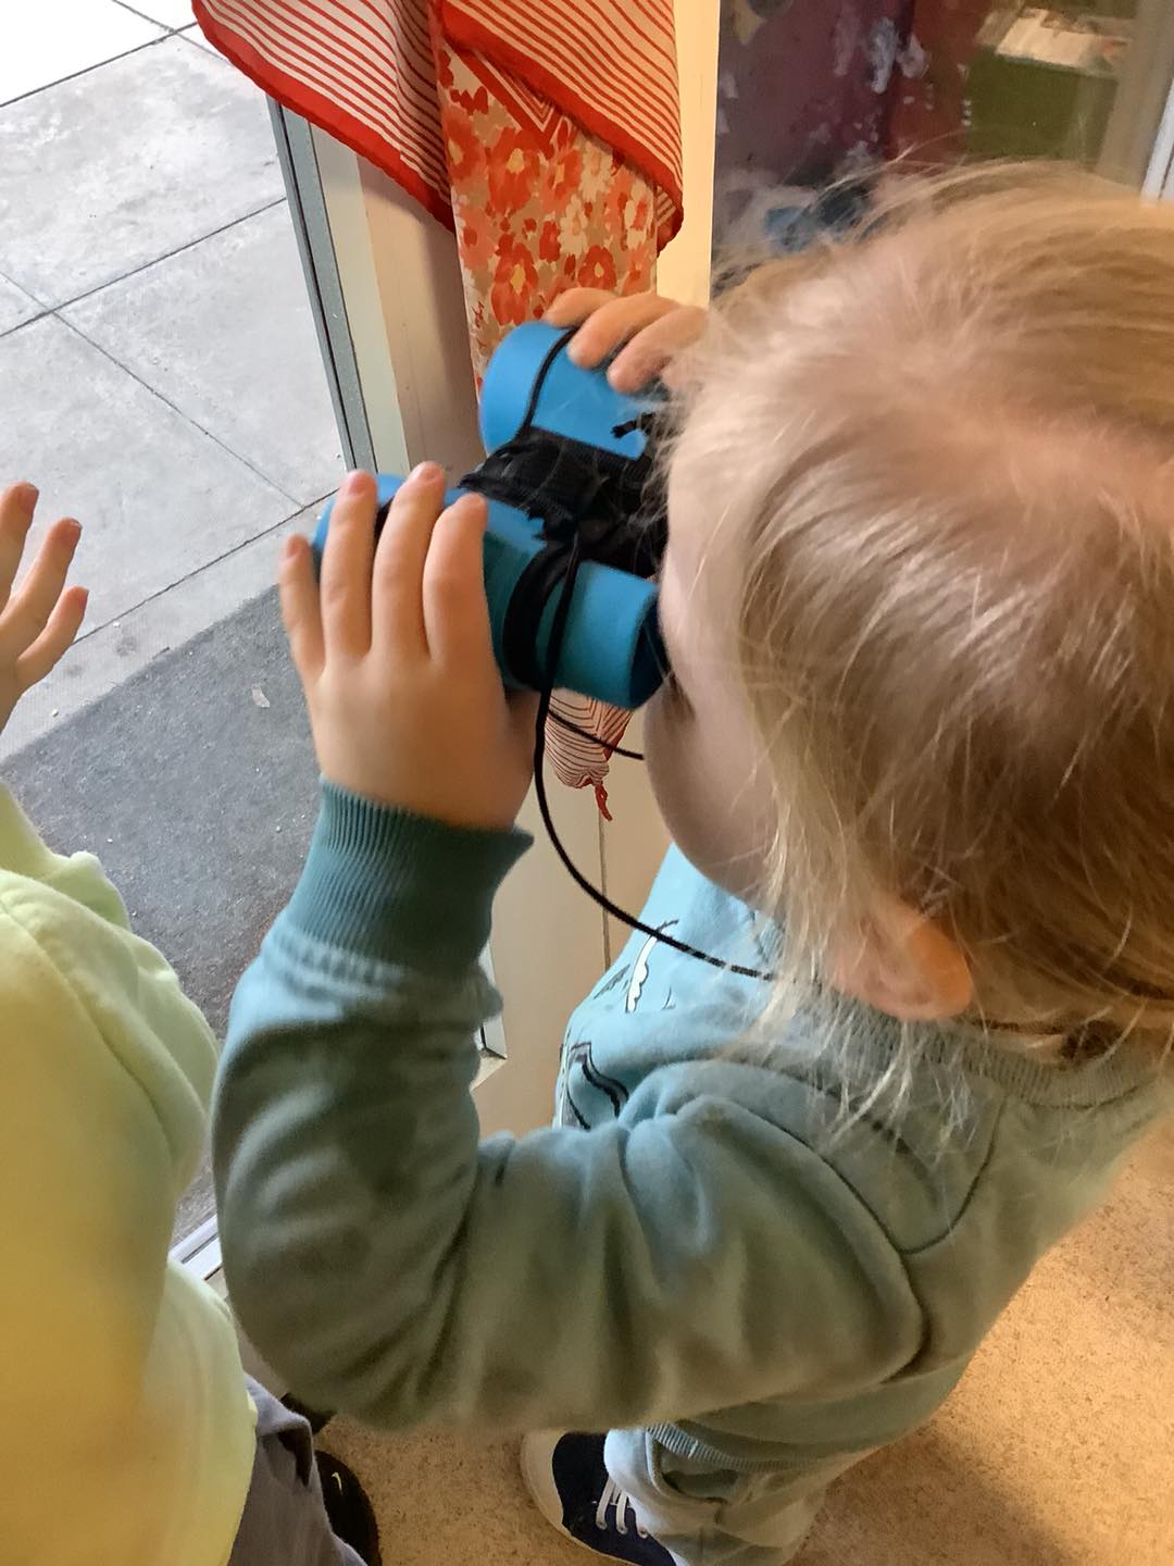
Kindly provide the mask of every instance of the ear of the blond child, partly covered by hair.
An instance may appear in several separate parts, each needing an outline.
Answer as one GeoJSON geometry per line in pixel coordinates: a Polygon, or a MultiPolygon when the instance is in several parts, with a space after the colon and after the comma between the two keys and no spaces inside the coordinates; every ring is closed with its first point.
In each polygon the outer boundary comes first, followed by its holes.
{"type": "Polygon", "coordinates": [[[831,982],[902,1023],[958,1016],[974,999],[956,941],[895,897],[886,897],[833,952],[831,982]]]}

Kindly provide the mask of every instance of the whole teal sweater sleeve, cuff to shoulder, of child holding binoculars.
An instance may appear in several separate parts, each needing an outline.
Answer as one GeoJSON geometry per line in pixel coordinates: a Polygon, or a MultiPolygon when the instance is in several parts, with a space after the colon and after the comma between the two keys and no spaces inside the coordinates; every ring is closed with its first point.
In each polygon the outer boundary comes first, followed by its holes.
{"type": "Polygon", "coordinates": [[[477,1138],[477,966],[517,835],[327,789],[238,990],[213,1148],[230,1297],[319,1406],[601,1430],[873,1383],[917,1350],[900,1257],[753,1107],[676,1093],[477,1138]],[[629,1106],[631,1107],[631,1106],[629,1106]]]}

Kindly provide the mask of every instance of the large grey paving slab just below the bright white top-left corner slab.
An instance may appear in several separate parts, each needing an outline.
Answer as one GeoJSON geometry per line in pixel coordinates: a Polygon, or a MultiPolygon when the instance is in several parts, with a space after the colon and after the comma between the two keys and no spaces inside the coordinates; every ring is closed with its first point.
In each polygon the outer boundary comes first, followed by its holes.
{"type": "Polygon", "coordinates": [[[178,36],[0,108],[0,274],[45,305],[283,194],[265,96],[178,36]]]}

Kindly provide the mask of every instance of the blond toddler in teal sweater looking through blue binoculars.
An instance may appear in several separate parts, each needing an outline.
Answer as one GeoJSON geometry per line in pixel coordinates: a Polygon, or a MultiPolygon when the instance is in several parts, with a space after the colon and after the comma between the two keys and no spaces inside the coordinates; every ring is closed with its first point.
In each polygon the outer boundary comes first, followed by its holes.
{"type": "Polygon", "coordinates": [[[1174,211],[988,169],[709,321],[551,319],[679,406],[643,919],[772,977],[634,936],[559,1123],[479,1142],[532,703],[482,504],[420,468],[376,547],[351,474],[282,572],[322,806],[221,1066],[229,1283],[307,1398],[556,1431],[598,1555],[778,1566],[1171,1102],[1174,211]]]}

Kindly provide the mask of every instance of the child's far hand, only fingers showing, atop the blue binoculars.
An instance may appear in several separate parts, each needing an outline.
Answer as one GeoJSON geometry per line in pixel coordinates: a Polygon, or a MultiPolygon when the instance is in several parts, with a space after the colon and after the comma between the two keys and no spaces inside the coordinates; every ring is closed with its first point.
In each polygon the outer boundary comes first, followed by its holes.
{"type": "Polygon", "coordinates": [[[614,354],[607,379],[617,392],[639,392],[704,330],[706,312],[659,294],[617,299],[601,288],[559,294],[545,316],[549,326],[582,323],[567,349],[576,365],[593,370],[614,354]]]}

